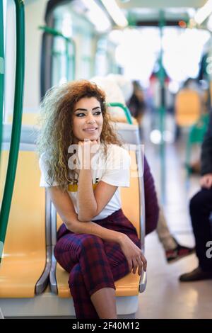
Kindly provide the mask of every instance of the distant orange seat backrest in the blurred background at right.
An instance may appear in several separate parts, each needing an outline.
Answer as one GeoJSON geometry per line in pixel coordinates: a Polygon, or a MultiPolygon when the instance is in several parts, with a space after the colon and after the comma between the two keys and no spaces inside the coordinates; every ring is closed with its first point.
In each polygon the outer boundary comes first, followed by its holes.
{"type": "Polygon", "coordinates": [[[182,89],[175,99],[175,118],[179,126],[196,123],[201,114],[201,100],[197,91],[182,89]]]}

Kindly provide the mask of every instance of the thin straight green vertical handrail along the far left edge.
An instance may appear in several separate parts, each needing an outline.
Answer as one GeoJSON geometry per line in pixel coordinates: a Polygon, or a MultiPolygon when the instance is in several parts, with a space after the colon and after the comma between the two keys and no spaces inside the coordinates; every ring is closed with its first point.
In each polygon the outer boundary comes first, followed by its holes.
{"type": "Polygon", "coordinates": [[[4,105],[4,16],[3,1],[0,1],[0,162],[1,141],[3,129],[3,105],[4,105]]]}

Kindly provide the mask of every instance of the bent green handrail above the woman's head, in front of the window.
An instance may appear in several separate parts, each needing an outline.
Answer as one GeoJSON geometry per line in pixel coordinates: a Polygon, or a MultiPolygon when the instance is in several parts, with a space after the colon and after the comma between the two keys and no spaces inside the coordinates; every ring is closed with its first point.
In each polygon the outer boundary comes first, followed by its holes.
{"type": "Polygon", "coordinates": [[[58,30],[55,30],[53,28],[49,28],[47,26],[39,26],[40,30],[45,31],[45,33],[49,33],[50,35],[53,36],[57,36],[57,37],[61,37],[65,40],[66,42],[66,77],[67,79],[69,78],[69,47],[68,45],[71,44],[71,46],[73,47],[73,78],[75,78],[75,71],[76,71],[76,59],[75,59],[75,55],[76,55],[76,45],[75,42],[72,38],[70,37],[66,37],[63,33],[61,33],[58,30]]]}

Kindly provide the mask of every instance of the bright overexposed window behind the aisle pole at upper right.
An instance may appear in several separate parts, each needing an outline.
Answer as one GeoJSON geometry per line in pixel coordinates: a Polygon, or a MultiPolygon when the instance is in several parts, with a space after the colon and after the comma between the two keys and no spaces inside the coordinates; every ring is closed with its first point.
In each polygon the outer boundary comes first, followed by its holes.
{"type": "Polygon", "coordinates": [[[123,73],[146,86],[163,48],[163,66],[173,81],[196,77],[201,53],[210,33],[206,30],[165,26],[162,42],[158,27],[125,29],[117,46],[117,62],[123,73]],[[189,45],[189,46],[188,46],[189,45]]]}

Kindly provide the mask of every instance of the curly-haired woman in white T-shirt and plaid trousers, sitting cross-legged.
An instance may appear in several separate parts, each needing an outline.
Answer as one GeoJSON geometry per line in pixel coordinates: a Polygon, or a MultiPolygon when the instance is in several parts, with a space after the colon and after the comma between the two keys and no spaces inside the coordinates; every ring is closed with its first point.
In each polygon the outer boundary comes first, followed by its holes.
{"type": "Polygon", "coordinates": [[[120,201],[119,186],[129,187],[129,153],[109,123],[105,93],[89,81],[51,89],[42,113],[40,186],[63,221],[54,256],[69,272],[76,317],[117,318],[114,281],[146,271],[120,201]]]}

